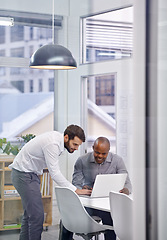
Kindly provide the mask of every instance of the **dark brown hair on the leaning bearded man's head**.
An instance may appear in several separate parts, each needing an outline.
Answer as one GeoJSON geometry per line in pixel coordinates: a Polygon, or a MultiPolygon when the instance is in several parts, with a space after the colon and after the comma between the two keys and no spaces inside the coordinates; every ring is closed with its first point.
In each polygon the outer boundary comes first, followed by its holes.
{"type": "Polygon", "coordinates": [[[68,135],[69,140],[74,139],[74,137],[78,137],[82,142],[85,142],[85,133],[84,130],[77,126],[77,125],[69,125],[65,131],[64,131],[64,136],[68,135]]]}

